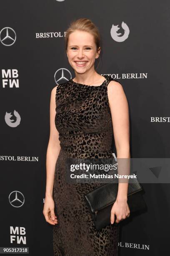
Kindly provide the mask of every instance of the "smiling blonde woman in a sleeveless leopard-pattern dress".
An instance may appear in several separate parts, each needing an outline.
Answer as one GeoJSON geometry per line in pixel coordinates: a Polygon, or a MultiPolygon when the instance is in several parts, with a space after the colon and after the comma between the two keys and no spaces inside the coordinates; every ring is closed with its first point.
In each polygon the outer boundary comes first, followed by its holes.
{"type": "Polygon", "coordinates": [[[95,71],[101,48],[100,34],[92,21],[81,18],[72,22],[65,40],[75,78],[51,92],[43,214],[54,225],[55,256],[115,256],[120,220],[130,215],[128,184],[119,184],[110,225],[96,230],[84,195],[101,184],[67,183],[65,161],[112,158],[113,131],[117,158],[130,158],[128,103],[119,82],[95,71]]]}

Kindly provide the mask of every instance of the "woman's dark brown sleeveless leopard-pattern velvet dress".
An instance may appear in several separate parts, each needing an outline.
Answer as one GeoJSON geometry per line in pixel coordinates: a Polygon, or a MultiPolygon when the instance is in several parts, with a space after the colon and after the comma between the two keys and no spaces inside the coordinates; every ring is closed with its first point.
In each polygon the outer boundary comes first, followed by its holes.
{"type": "MultiPolygon", "coordinates": [[[[69,81],[57,85],[55,126],[60,153],[55,164],[53,199],[58,223],[53,226],[55,256],[117,256],[120,224],[96,230],[84,194],[103,183],[69,184],[65,181],[68,158],[112,158],[112,117],[107,84],[69,81]]],[[[117,81],[118,82],[118,81],[117,81]]]]}

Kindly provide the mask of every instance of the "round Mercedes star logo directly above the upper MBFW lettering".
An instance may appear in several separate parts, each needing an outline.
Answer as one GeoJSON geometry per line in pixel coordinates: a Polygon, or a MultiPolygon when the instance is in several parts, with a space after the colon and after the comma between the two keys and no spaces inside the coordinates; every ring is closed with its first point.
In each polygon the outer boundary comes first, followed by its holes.
{"type": "Polygon", "coordinates": [[[2,28],[0,31],[0,41],[5,46],[11,46],[16,41],[16,33],[13,28],[2,28]]]}

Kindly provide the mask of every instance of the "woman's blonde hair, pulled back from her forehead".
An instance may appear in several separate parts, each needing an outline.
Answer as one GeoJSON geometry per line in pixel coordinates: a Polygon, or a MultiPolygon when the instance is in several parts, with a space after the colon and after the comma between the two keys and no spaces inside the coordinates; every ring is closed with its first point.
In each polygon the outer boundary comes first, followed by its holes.
{"type": "MultiPolygon", "coordinates": [[[[66,51],[67,51],[69,36],[70,36],[71,33],[75,32],[76,30],[85,31],[85,32],[88,32],[88,33],[92,34],[94,36],[94,41],[95,41],[96,48],[97,48],[97,51],[98,51],[99,47],[101,47],[100,46],[99,30],[95,26],[95,24],[87,18],[80,18],[78,20],[73,20],[70,23],[70,26],[69,26],[69,28],[67,28],[66,36],[65,36],[65,50],[66,51]]],[[[99,55],[98,59],[99,59],[99,63],[97,64],[96,69],[98,68],[98,66],[100,64],[100,55],[99,55]]]]}

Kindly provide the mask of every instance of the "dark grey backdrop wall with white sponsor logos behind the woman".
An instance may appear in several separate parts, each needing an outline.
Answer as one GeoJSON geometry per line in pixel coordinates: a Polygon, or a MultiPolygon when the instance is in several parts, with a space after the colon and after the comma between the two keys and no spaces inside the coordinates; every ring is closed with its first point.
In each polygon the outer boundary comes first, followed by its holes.
{"type": "MultiPolygon", "coordinates": [[[[100,30],[97,72],[123,86],[131,157],[169,157],[169,13],[167,0],[1,0],[0,247],[53,255],[53,226],[42,213],[50,95],[75,77],[64,44],[72,20],[89,18],[100,30]]],[[[169,183],[143,188],[147,211],[121,223],[120,256],[169,252],[169,183]]]]}

